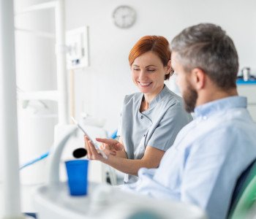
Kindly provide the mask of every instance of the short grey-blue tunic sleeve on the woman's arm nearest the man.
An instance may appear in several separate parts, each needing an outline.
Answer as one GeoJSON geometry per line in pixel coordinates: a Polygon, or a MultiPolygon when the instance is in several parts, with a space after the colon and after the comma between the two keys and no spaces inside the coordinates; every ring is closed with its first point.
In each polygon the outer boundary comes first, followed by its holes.
{"type": "Polygon", "coordinates": [[[173,145],[178,132],[192,120],[181,104],[170,106],[159,121],[158,126],[149,133],[146,145],[166,151],[173,145]]]}

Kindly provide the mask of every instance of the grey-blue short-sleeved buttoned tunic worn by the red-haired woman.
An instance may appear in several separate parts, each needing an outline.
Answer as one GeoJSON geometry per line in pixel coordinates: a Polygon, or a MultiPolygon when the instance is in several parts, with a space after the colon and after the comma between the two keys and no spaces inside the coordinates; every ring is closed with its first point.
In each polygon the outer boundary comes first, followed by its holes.
{"type": "MultiPolygon", "coordinates": [[[[148,110],[140,112],[143,93],[126,96],[121,112],[118,136],[122,137],[129,159],[141,159],[146,146],[167,150],[178,131],[192,120],[185,112],[180,96],[166,86],[151,101],[148,110]]],[[[126,174],[124,183],[134,183],[137,176],[126,174]]]]}

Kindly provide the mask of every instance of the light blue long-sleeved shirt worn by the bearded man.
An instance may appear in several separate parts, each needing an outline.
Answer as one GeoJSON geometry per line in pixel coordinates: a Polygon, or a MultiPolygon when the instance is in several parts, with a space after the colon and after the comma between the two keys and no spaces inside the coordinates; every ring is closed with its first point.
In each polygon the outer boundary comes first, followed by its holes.
{"type": "Polygon", "coordinates": [[[159,168],[140,169],[138,183],[124,189],[196,204],[209,218],[222,219],[238,177],[256,158],[256,124],[239,96],[196,107],[195,117],[159,168]]]}

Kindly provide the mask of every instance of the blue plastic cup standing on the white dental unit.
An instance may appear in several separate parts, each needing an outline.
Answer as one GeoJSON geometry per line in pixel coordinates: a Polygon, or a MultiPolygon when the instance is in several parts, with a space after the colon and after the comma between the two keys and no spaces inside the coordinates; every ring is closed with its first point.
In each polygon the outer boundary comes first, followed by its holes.
{"type": "Polygon", "coordinates": [[[71,196],[87,194],[87,173],[89,160],[66,161],[69,193],[71,196]]]}

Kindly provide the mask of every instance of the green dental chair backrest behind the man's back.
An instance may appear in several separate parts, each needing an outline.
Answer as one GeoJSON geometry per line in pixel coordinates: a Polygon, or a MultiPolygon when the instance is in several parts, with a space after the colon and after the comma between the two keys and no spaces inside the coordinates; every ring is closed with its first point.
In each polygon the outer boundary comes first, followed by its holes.
{"type": "Polygon", "coordinates": [[[241,176],[238,178],[230,209],[227,215],[228,219],[253,218],[252,211],[256,203],[256,159],[252,161],[241,176]]]}

